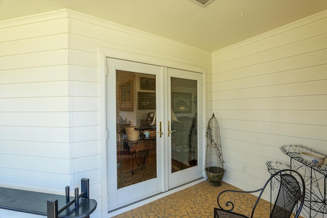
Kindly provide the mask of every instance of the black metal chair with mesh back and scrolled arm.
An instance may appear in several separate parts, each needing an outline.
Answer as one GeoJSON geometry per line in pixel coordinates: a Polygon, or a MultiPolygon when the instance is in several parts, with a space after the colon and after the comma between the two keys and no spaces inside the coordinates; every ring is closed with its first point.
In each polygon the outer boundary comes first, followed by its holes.
{"type": "MultiPolygon", "coordinates": [[[[235,211],[232,211],[233,209],[235,209],[234,208],[235,205],[230,200],[228,200],[225,203],[226,207],[223,208],[220,204],[220,201],[222,201],[220,197],[226,195],[226,192],[227,193],[234,192],[234,194],[237,194],[237,193],[254,193],[260,191],[259,197],[255,201],[252,208],[252,212],[250,216],[252,218],[255,208],[258,205],[258,202],[267,186],[270,187],[270,198],[271,198],[270,218],[289,218],[293,213],[293,210],[294,210],[294,218],[297,218],[301,212],[305,200],[306,187],[305,187],[305,181],[303,180],[302,176],[298,172],[292,169],[283,169],[281,171],[276,172],[267,180],[263,188],[260,188],[255,191],[224,190],[220,192],[217,197],[218,206],[220,208],[214,209],[214,217],[215,218],[248,217],[244,214],[240,214],[235,211]],[[270,186],[268,184],[270,184],[270,186]],[[278,192],[276,190],[278,190],[278,192]],[[275,199],[274,203],[273,203],[273,199],[275,199]]],[[[244,205],[239,205],[239,206],[244,206],[244,205]]]]}

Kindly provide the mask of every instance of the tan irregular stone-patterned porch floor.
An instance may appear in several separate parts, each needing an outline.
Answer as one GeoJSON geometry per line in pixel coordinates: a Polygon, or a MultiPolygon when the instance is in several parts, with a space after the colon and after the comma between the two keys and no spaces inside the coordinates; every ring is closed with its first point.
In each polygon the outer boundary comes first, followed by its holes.
{"type": "MultiPolygon", "coordinates": [[[[220,187],[213,187],[209,185],[209,180],[207,180],[114,217],[212,218],[214,217],[214,207],[217,207],[217,195],[225,189],[239,190],[225,182],[222,182],[220,187]]],[[[229,200],[230,196],[226,196],[226,199],[229,200]]],[[[238,197],[236,201],[243,206],[236,208],[235,211],[242,211],[244,215],[250,216],[251,207],[246,207],[244,205],[249,204],[251,206],[254,204],[255,200],[256,197],[250,194],[238,197]]],[[[262,200],[261,205],[261,207],[257,208],[256,214],[253,217],[269,217],[269,203],[262,200]]]]}

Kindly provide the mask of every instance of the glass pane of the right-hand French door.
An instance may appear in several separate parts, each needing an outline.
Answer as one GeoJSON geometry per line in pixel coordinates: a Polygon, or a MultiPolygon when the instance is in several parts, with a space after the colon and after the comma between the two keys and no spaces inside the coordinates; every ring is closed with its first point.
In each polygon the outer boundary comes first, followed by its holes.
{"type": "Polygon", "coordinates": [[[171,78],[172,173],[198,164],[197,81],[171,78]]]}

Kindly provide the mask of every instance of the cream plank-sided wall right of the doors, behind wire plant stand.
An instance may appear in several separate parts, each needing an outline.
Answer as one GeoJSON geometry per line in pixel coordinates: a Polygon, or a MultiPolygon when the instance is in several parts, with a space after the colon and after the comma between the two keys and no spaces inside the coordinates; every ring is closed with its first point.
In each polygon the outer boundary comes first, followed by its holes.
{"type": "Polygon", "coordinates": [[[224,181],[262,186],[266,161],[290,162],[283,144],[327,154],[326,11],[216,51],[212,80],[224,181]]]}

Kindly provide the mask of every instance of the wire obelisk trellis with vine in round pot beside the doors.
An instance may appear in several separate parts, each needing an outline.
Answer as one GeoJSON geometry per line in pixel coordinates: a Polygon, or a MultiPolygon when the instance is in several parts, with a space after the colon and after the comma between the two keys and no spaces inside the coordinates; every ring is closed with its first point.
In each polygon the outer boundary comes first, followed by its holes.
{"type": "Polygon", "coordinates": [[[221,149],[219,124],[214,113],[208,121],[206,138],[205,172],[212,186],[220,186],[226,168],[221,149]]]}

